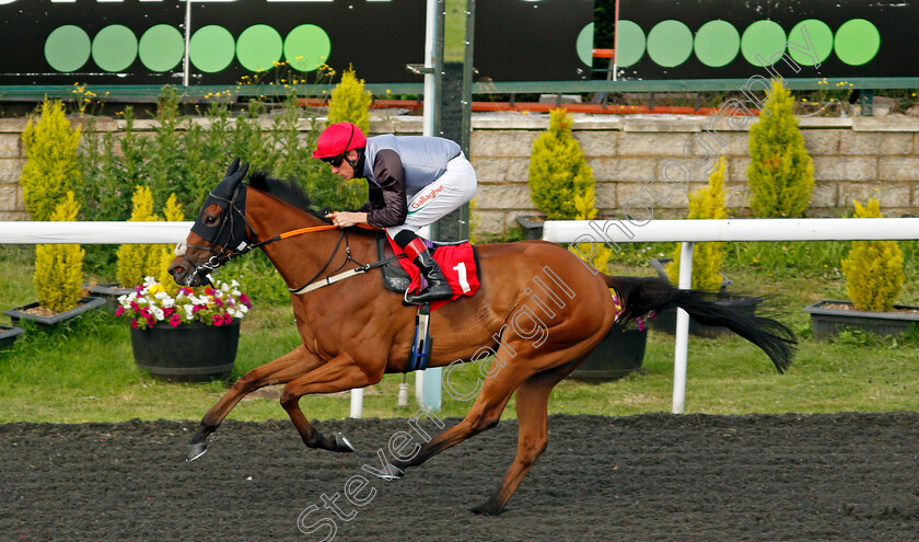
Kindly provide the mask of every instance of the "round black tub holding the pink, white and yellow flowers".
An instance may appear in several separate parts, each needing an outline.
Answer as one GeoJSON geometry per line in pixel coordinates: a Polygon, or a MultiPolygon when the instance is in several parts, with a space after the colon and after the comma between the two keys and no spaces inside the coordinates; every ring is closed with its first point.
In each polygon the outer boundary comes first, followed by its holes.
{"type": "Polygon", "coordinates": [[[236,360],[240,321],[226,325],[160,322],[131,328],[135,362],[167,382],[207,382],[230,376],[236,360]]]}

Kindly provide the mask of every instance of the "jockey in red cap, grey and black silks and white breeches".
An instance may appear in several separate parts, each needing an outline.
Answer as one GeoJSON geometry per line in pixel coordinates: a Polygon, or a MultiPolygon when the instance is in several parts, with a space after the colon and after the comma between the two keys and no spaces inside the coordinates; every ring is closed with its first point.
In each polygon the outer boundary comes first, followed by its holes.
{"type": "Polygon", "coordinates": [[[453,291],[417,232],[456,210],[476,194],[476,172],[460,146],[438,137],[393,135],[368,138],[351,123],[326,128],[313,158],[331,165],[341,178],[367,178],[370,197],[356,211],[326,215],[341,228],[383,228],[428,280],[407,296],[421,304],[450,299],[453,291]]]}

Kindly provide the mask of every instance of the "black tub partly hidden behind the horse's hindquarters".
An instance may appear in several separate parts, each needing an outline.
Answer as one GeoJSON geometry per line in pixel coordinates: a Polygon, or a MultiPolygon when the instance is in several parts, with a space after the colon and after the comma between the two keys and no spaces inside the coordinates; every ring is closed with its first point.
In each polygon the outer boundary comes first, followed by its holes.
{"type": "Polygon", "coordinates": [[[578,380],[614,380],[641,369],[648,330],[624,330],[614,325],[596,348],[569,378],[578,380]]]}

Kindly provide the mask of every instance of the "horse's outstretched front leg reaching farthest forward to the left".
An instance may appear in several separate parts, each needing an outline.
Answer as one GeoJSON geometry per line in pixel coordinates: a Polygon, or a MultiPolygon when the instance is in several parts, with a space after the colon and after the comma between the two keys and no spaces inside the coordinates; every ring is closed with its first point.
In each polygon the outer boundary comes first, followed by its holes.
{"type": "Polygon", "coordinates": [[[240,380],[233,383],[230,391],[201,418],[201,423],[198,425],[198,429],[195,431],[195,436],[191,437],[191,442],[188,445],[186,461],[195,461],[205,454],[208,450],[206,442],[208,436],[217,430],[220,423],[223,422],[223,418],[248,393],[266,385],[286,384],[314,370],[322,364],[323,360],[301,345],[290,354],[245,373],[240,380]]]}

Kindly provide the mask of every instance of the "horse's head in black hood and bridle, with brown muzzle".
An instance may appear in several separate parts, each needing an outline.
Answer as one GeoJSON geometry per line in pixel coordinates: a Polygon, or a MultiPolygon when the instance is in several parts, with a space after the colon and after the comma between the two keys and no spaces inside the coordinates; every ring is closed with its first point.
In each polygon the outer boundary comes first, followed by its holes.
{"type": "Polygon", "coordinates": [[[170,274],[183,286],[200,286],[208,275],[224,264],[230,254],[252,244],[246,229],[246,185],[243,178],[248,163],[240,159],[230,164],[226,175],[211,191],[191,231],[175,249],[170,274]]]}

